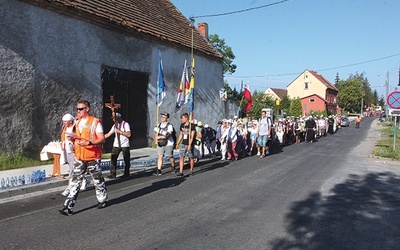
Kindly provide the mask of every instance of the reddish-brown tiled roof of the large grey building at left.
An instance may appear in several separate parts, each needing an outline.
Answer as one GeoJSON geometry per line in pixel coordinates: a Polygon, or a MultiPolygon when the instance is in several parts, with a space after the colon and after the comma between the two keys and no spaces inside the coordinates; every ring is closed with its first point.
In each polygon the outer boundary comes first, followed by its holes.
{"type": "MultiPolygon", "coordinates": [[[[23,0],[96,25],[158,43],[191,49],[190,22],[169,0],[23,0]]],[[[221,54],[197,31],[193,48],[221,59],[221,54]]]]}

